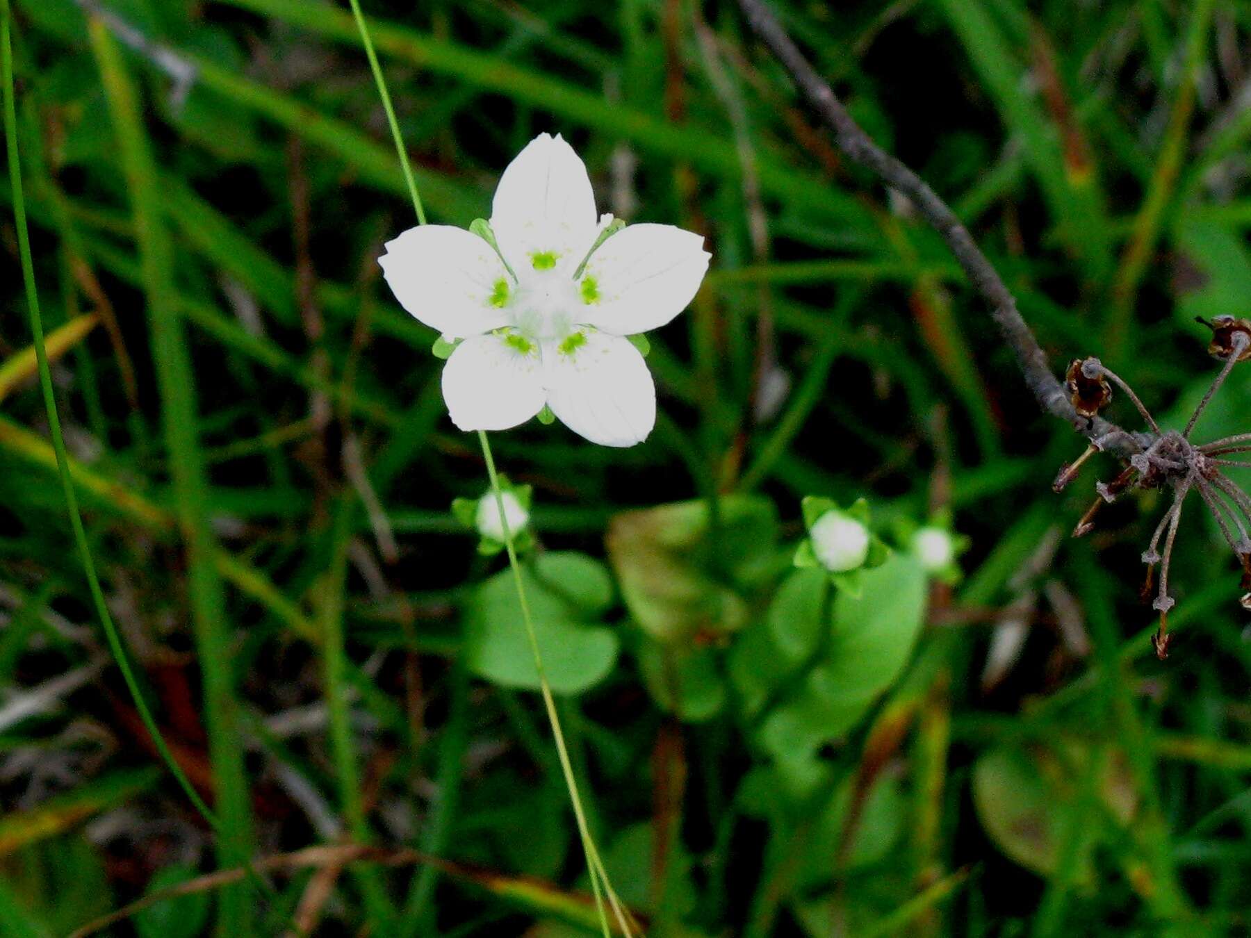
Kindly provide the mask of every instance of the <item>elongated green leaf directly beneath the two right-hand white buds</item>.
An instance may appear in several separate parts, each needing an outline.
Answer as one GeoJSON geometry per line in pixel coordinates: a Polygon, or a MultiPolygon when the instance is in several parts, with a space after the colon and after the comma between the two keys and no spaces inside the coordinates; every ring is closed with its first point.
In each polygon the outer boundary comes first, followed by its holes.
{"type": "Polygon", "coordinates": [[[912,654],[926,607],[926,575],[896,554],[859,572],[863,592],[839,592],[821,659],[761,728],[777,758],[798,758],[854,727],[898,678],[912,654]]]}

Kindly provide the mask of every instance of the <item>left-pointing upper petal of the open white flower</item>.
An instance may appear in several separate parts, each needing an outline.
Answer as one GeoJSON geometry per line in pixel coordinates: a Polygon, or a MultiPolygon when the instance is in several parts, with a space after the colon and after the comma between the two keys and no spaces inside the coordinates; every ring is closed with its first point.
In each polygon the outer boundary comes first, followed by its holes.
{"type": "Polygon", "coordinates": [[[410,228],[387,241],[378,263],[400,305],[444,336],[482,335],[509,321],[492,299],[512,289],[512,278],[475,234],[452,225],[410,228]]]}

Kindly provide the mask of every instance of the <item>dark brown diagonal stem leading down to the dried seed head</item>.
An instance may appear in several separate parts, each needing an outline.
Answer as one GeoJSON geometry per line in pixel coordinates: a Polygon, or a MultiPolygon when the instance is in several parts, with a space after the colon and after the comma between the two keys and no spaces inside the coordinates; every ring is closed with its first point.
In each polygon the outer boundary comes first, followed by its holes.
{"type": "Polygon", "coordinates": [[[990,304],[991,316],[1003,340],[1016,354],[1025,381],[1040,406],[1047,413],[1067,420],[1075,429],[1091,439],[1108,434],[1122,434],[1121,440],[1113,436],[1113,441],[1106,448],[1115,451],[1123,450],[1125,455],[1132,455],[1136,449],[1128,445],[1132,440],[1130,434],[1102,418],[1087,420],[1078,416],[1063,385],[1052,373],[1042,346],[1038,345],[1033,331],[1017,310],[1016,299],[1011,290],[973,241],[973,236],[956,216],[956,213],[916,173],[873,143],[761,0],[738,0],[738,4],[756,35],[777,56],[799,91],[834,133],[838,148],[852,160],[873,171],[892,189],[908,196],[922,218],[947,243],[973,288],[990,304]]]}

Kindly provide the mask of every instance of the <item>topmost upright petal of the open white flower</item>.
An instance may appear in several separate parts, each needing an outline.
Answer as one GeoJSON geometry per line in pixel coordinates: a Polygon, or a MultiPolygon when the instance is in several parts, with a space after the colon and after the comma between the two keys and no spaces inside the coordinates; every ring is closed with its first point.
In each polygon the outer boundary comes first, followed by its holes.
{"type": "Polygon", "coordinates": [[[595,235],[595,195],[587,166],[559,134],[539,134],[508,164],[490,206],[499,250],[518,270],[535,253],[582,263],[595,235]]]}

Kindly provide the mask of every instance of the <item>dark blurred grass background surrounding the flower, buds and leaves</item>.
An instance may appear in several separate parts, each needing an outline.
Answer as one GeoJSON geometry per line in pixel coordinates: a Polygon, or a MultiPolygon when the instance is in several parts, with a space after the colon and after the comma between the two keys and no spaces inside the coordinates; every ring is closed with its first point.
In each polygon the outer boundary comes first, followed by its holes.
{"type": "MultiPolygon", "coordinates": [[[[597,610],[609,667],[562,714],[652,933],[1247,933],[1232,558],[1191,510],[1157,662],[1137,594],[1160,494],[1067,539],[1117,468],[1096,458],[1052,494],[1083,441],[1040,414],[942,243],[839,156],[734,5],[364,6],[433,221],[487,215],[508,160],[559,131],[602,210],[698,230],[713,253],[691,311],[652,336],[646,444],[494,435],[534,487],[542,550],[603,559],[622,510],[746,490],[776,504],[779,554],[807,494],[867,495],[884,528],[950,509],[972,542],[909,665],[821,748],[817,800],[761,783],[769,758],[726,677],[763,605],[664,648],[698,657],[691,707],[641,675],[656,638],[620,599],[597,610]]],[[[48,326],[95,316],[59,334],[54,378],[109,607],[226,840],[271,857],[368,839],[457,864],[310,860],[265,874],[276,895],[205,880],[110,933],[276,934],[291,917],[320,934],[585,933],[537,698],[467,662],[474,590],[500,562],[447,509],[485,474],[447,420],[435,336],[375,264],[413,218],[345,5],[99,9],[114,30],[93,40],[73,0],[18,0],[15,48],[48,326]],[[111,66],[118,21],[190,70],[151,45],[111,66]],[[126,126],[153,173],[124,173],[126,126]],[[183,324],[189,385],[154,356],[154,303],[183,324]],[[200,463],[203,487],[178,482],[200,463]]],[[[1193,316],[1251,300],[1251,5],[774,9],[973,230],[1057,371],[1098,355],[1183,421],[1213,370],[1193,316]]],[[[0,240],[0,934],[65,934],[235,854],[161,768],[104,643],[20,359],[11,215],[0,240]]],[[[1251,365],[1200,439],[1251,429],[1248,401],[1251,365]]],[[[1111,415],[1140,425],[1123,398],[1111,415]]]]}

